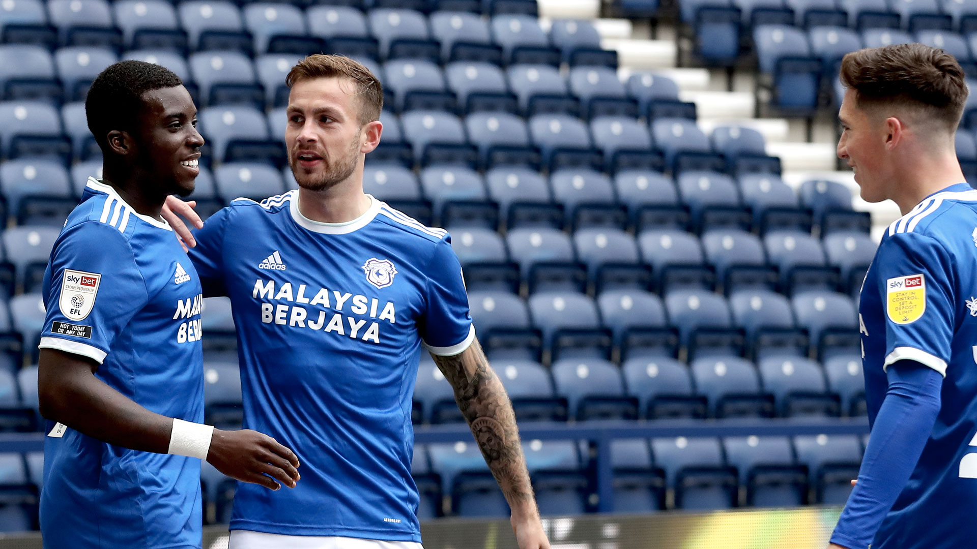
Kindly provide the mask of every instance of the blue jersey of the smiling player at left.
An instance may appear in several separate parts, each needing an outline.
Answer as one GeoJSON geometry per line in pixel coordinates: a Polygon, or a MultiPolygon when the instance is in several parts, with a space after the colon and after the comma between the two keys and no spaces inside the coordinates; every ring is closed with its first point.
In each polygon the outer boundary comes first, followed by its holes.
{"type": "MultiPolygon", "coordinates": [[[[96,376],[150,411],[203,421],[203,297],[170,227],[88,181],[44,274],[42,349],[101,363],[96,376]]],[[[200,547],[200,460],[103,443],[47,422],[44,546],[200,547]]]]}

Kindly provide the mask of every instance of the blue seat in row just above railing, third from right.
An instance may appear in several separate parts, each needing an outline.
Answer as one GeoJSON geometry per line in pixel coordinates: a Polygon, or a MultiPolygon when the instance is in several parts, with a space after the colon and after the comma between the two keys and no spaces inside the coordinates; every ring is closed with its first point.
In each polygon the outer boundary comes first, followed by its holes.
{"type": "Polygon", "coordinates": [[[739,357],[695,359],[689,364],[696,390],[708,399],[711,417],[773,417],[774,399],[761,389],[756,366],[739,357]]]}

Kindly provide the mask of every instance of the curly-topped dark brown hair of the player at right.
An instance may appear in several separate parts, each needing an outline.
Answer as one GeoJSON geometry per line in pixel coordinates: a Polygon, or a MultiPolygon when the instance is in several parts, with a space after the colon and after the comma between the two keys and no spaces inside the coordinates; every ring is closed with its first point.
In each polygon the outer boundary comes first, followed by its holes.
{"type": "Polygon", "coordinates": [[[852,52],[841,60],[841,83],[859,106],[892,103],[922,107],[953,132],[963,114],[967,86],[954,56],[923,44],[895,44],[852,52]]]}

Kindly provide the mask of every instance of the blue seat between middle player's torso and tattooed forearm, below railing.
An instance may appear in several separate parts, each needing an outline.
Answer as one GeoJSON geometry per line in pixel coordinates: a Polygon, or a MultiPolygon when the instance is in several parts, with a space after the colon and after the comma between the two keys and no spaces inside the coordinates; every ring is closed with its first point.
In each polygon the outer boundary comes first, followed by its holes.
{"type": "Polygon", "coordinates": [[[435,443],[428,446],[431,468],[450,494],[451,509],[461,517],[508,517],[509,505],[488,471],[478,445],[435,443]]]}

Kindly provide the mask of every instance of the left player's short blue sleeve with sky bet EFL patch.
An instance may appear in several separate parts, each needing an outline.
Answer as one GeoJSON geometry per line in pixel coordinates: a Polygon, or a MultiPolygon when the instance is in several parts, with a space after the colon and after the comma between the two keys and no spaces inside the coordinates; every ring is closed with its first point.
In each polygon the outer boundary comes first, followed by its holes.
{"type": "Polygon", "coordinates": [[[51,254],[40,349],[81,355],[100,364],[149,292],[136,256],[114,227],[88,222],[65,230],[51,254]]]}

